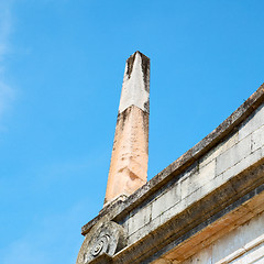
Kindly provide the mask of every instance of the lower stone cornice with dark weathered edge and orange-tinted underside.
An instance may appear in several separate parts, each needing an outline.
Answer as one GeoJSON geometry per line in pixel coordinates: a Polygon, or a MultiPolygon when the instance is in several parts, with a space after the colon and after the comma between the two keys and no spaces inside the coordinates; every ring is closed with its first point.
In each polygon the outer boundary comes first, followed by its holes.
{"type": "Polygon", "coordinates": [[[264,158],[112,258],[114,264],[184,261],[264,210],[264,158]],[[197,246],[195,246],[197,245],[197,246]],[[200,246],[200,248],[198,248],[200,246]]]}

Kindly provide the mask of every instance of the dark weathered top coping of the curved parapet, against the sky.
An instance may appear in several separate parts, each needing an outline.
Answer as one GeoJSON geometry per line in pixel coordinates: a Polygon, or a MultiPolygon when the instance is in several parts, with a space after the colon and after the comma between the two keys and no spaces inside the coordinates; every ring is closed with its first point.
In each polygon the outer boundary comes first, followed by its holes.
{"type": "Polygon", "coordinates": [[[216,130],[208,134],[198,144],[187,151],[178,160],[158,173],[144,186],[138,189],[127,200],[117,200],[105,207],[100,213],[90,222],[81,228],[81,234],[86,234],[103,216],[108,215],[109,219],[121,220],[128,212],[133,210],[142,201],[151,197],[162,186],[167,184],[172,178],[178,177],[179,174],[194,164],[198,158],[208,153],[213,146],[220,143],[229,134],[237,131],[241,124],[254,110],[264,101],[264,85],[262,85],[242,106],[240,106],[228,119],[226,119],[216,130]]]}

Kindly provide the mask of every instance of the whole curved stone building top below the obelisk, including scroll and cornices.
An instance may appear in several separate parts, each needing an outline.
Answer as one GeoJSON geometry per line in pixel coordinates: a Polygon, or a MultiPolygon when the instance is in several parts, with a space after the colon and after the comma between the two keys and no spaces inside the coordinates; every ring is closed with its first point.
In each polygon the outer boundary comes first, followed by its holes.
{"type": "Polygon", "coordinates": [[[85,224],[77,263],[264,263],[263,213],[264,85],[197,145],[85,224]]]}

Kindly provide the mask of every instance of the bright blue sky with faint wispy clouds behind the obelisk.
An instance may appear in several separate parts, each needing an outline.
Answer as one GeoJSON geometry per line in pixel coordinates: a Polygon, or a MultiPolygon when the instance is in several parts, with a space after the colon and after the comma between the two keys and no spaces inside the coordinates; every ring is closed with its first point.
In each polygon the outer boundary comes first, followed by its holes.
{"type": "Polygon", "coordinates": [[[264,1],[0,0],[0,263],[72,264],[102,208],[125,59],[151,58],[148,178],[264,81],[264,1]]]}

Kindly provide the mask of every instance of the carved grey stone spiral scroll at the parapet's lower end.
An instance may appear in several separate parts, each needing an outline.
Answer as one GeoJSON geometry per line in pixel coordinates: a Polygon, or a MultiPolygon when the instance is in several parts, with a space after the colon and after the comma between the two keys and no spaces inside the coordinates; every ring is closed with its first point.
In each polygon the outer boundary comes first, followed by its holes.
{"type": "Polygon", "coordinates": [[[113,256],[125,245],[127,235],[120,224],[113,221],[100,222],[86,235],[76,263],[87,264],[101,255],[113,256]]]}

